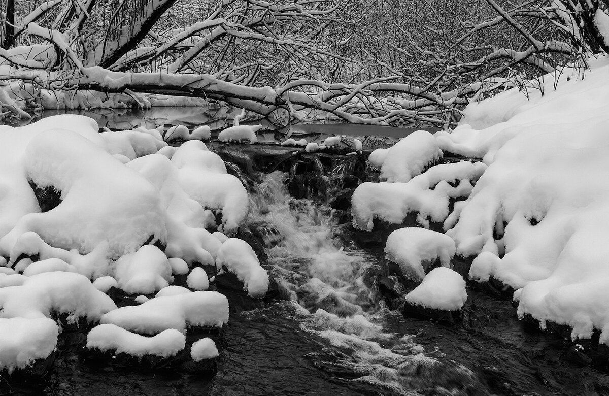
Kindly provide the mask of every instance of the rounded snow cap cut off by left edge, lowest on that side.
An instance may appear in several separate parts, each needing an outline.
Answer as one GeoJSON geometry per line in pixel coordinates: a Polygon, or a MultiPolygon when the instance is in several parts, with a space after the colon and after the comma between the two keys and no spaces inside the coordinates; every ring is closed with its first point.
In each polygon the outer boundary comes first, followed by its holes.
{"type": "Polygon", "coordinates": [[[0,319],[0,370],[12,373],[51,355],[59,328],[48,317],[0,319]]]}

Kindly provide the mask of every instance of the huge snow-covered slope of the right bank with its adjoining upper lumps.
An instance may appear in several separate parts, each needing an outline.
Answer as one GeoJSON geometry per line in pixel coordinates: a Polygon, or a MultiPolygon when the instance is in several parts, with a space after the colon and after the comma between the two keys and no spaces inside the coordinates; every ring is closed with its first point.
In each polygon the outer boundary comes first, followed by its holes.
{"type": "Polygon", "coordinates": [[[371,162],[382,163],[381,176],[394,183],[356,189],[354,225],[370,230],[374,218],[400,224],[411,211],[423,225],[444,221],[457,254],[476,258],[472,278],[516,289],[519,316],[530,314],[542,327],[546,320],[569,325],[573,338],[590,338],[596,328],[609,343],[608,81],[609,60],[593,59],[585,79],[544,76],[543,94],[512,89],[469,105],[459,127],[434,135],[435,145],[419,133],[414,146],[405,138],[379,152],[371,162]],[[419,143],[419,154],[406,154],[419,143]],[[451,164],[431,177],[434,166],[412,177],[438,149],[484,164],[451,164]],[[456,187],[446,183],[455,179],[456,187]],[[448,213],[451,197],[467,199],[448,213]]]}

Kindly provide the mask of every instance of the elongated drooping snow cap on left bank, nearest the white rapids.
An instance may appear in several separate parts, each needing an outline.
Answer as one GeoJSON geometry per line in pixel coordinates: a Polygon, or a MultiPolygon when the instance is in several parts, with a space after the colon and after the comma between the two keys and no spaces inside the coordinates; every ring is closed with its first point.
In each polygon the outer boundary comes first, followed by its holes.
{"type": "Polygon", "coordinates": [[[238,238],[225,241],[216,258],[216,266],[227,269],[243,282],[250,297],[264,297],[269,290],[269,274],[260,266],[258,256],[247,242],[238,238]]]}

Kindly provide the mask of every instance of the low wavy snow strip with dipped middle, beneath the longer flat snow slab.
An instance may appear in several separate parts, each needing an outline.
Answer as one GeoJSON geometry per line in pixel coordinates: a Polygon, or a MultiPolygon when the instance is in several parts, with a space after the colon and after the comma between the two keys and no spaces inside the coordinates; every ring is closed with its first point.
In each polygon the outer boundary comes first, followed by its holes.
{"type": "Polygon", "coordinates": [[[185,345],[186,336],[174,328],[163,330],[153,337],[145,337],[116,325],[102,324],[94,327],[86,336],[87,348],[127,353],[138,358],[144,355],[164,358],[175,356],[185,345]]]}

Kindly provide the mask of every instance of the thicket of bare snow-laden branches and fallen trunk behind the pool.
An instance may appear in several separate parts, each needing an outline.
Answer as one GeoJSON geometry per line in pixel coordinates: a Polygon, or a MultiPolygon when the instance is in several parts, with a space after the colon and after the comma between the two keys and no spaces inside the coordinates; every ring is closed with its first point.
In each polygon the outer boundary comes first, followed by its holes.
{"type": "Polygon", "coordinates": [[[609,49],[607,0],[2,0],[0,10],[0,103],[17,116],[78,92],[140,105],[166,93],[271,118],[450,125],[471,100],[609,49]]]}

